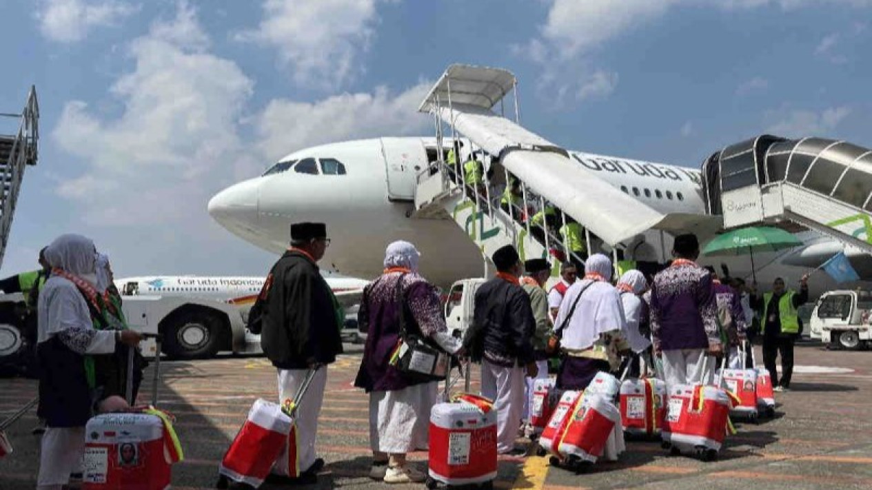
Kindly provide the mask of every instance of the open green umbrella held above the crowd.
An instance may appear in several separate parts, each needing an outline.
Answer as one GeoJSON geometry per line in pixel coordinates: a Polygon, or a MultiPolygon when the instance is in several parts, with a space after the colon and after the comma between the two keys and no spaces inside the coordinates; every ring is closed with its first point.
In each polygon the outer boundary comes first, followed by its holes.
{"type": "Polygon", "coordinates": [[[703,248],[703,255],[710,257],[725,255],[751,255],[751,274],[754,281],[754,252],[775,252],[785,248],[802,245],[799,239],[780,228],[750,227],[739,228],[718,235],[703,248]]]}

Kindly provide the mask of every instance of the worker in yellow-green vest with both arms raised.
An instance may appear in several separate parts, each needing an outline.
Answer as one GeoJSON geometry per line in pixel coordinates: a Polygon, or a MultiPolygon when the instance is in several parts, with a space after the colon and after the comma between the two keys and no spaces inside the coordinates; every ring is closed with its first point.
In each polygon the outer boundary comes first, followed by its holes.
{"type": "Polygon", "coordinates": [[[751,305],[763,312],[763,364],[772,376],[775,391],[787,391],[794,374],[794,342],[799,337],[800,316],[796,309],[808,301],[808,275],[800,279],[800,292],[785,289],[784,279],[777,278],[772,292],[757,296],[757,284],[751,286],[751,305]],[[781,380],[778,379],[775,361],[781,353],[781,380]]]}

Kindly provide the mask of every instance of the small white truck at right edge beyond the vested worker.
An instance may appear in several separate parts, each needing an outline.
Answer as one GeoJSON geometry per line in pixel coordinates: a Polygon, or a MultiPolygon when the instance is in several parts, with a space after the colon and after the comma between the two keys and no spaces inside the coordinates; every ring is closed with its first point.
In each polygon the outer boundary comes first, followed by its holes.
{"type": "Polygon", "coordinates": [[[862,289],[828,291],[814,305],[811,337],[844,349],[862,349],[872,341],[870,319],[872,292],[862,289]]]}

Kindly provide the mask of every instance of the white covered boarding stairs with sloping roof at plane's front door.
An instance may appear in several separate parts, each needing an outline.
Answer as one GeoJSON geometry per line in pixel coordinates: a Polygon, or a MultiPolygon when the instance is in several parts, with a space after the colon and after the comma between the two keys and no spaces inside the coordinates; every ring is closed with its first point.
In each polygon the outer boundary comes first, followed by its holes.
{"type": "MultiPolygon", "coordinates": [[[[566,224],[567,216],[587,230],[589,251],[589,234],[593,234],[612,248],[616,258],[619,249],[626,248],[630,255],[628,246],[651,229],[673,234],[694,229],[704,235],[707,230],[713,235],[719,228],[719,220],[705,215],[660,213],[584,172],[561,146],[520,125],[516,84],[510,71],[451,65],[433,85],[419,112],[434,115],[439,155],[433,167],[418,176],[416,217],[451,218],[467,229],[483,254],[513,243],[526,252],[525,258],[545,257],[549,251],[571,257],[572,251],[554,229],[566,224]],[[514,120],[506,117],[509,93],[514,94],[514,111],[509,110],[514,120]],[[460,156],[456,167],[446,165],[444,148],[453,147],[461,136],[472,146],[464,153],[487,155],[489,160],[483,184],[474,188],[465,184],[460,156]],[[521,181],[522,204],[501,209],[501,189],[512,178],[521,181]],[[547,204],[562,211],[558,213],[562,222],[551,229],[542,227],[537,234],[526,217],[547,204]]],[[[572,258],[582,262],[582,257],[572,258]]]]}

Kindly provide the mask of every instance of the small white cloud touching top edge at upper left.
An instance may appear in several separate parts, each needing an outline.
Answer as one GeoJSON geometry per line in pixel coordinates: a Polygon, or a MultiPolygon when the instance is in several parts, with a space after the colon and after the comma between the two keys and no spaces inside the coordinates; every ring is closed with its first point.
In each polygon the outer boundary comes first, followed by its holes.
{"type": "Polygon", "coordinates": [[[72,43],[84,39],[93,28],[117,24],[137,10],[121,0],[43,0],[36,17],[45,37],[72,43]]]}

